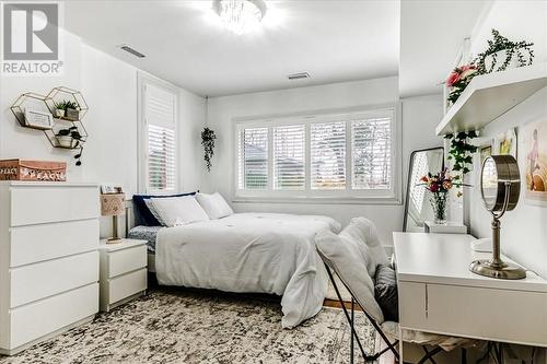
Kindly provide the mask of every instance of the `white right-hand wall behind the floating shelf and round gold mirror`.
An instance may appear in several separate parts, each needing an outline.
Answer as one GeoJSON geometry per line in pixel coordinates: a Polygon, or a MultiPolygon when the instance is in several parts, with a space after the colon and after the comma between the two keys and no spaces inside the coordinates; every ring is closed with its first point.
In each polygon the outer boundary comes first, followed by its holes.
{"type": "MultiPolygon", "coordinates": [[[[535,43],[535,62],[547,61],[547,2],[545,1],[496,1],[484,23],[472,39],[474,52],[486,47],[486,38],[491,28],[497,28],[512,40],[526,39],[535,43]],[[514,20],[522,20],[515,22],[514,20]]],[[[491,122],[481,133],[484,140],[494,138],[510,128],[520,128],[533,120],[547,118],[547,87],[536,93],[524,103],[491,122]]],[[[521,174],[524,171],[526,152],[522,140],[517,144],[517,160],[521,174]]],[[[491,216],[482,207],[479,190],[480,166],[475,158],[472,175],[473,188],[469,206],[466,207],[472,234],[489,237],[491,216]]],[[[522,178],[522,180],[525,180],[522,178]]],[[[526,203],[524,187],[520,202],[514,211],[508,212],[501,220],[502,251],[528,269],[547,278],[547,208],[526,203]]]]}

